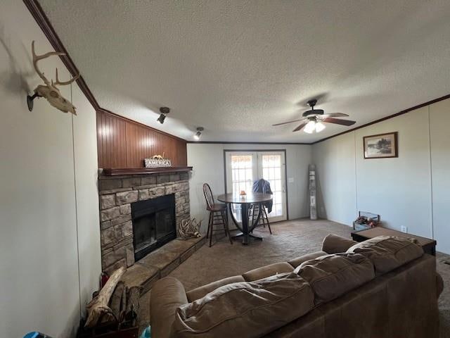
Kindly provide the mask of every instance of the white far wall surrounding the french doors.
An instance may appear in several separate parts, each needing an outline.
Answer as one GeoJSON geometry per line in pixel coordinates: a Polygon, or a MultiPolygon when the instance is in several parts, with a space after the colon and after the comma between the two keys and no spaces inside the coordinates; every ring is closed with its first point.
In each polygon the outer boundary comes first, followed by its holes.
{"type": "Polygon", "coordinates": [[[311,146],[295,144],[188,144],[188,165],[193,166],[190,184],[191,216],[203,219],[207,227],[207,212],[203,183],[210,184],[214,197],[224,194],[224,149],[285,149],[288,178],[289,219],[309,216],[308,165],[311,146]]]}

